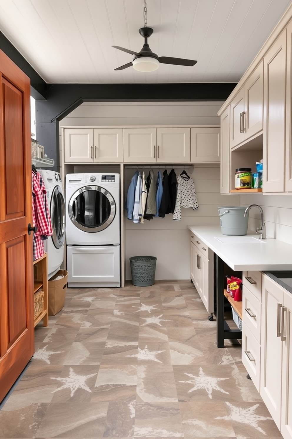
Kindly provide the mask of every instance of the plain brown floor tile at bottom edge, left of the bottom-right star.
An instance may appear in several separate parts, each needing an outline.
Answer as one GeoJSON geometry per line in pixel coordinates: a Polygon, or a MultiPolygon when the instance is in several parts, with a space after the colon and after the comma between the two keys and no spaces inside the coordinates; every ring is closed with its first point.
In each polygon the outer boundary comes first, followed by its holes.
{"type": "Polygon", "coordinates": [[[185,439],[235,438],[232,423],[223,419],[227,415],[224,402],[179,403],[185,439]]]}

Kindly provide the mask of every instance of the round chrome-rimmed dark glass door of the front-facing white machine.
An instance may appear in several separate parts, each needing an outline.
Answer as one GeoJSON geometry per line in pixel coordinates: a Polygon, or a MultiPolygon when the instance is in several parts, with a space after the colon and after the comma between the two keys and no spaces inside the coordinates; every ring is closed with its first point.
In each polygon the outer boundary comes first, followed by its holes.
{"type": "Polygon", "coordinates": [[[71,197],[68,213],[78,229],[89,233],[100,232],[113,222],[116,203],[103,187],[84,186],[71,197]]]}

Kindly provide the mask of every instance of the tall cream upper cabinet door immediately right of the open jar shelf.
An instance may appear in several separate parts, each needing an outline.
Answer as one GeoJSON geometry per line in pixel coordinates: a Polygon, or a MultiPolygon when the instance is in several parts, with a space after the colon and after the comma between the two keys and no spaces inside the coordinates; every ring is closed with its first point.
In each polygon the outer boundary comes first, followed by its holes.
{"type": "Polygon", "coordinates": [[[285,68],[286,31],[264,57],[264,192],[285,190],[285,68]]]}

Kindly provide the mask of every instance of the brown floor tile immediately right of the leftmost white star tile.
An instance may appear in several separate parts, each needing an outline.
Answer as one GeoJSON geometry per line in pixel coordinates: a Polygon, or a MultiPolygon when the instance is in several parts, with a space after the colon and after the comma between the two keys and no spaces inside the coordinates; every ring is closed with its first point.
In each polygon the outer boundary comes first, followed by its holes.
{"type": "Polygon", "coordinates": [[[67,356],[63,361],[63,365],[100,364],[104,348],[105,342],[74,342],[72,343],[71,348],[67,351],[67,356]]]}

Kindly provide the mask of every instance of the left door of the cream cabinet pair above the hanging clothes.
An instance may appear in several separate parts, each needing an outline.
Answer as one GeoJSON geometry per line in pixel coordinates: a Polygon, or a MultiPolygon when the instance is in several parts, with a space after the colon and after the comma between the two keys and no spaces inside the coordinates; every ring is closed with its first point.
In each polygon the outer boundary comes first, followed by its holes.
{"type": "Polygon", "coordinates": [[[123,161],[134,163],[156,162],[156,129],[124,128],[123,161]]]}

